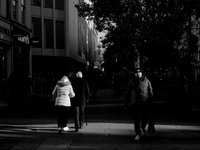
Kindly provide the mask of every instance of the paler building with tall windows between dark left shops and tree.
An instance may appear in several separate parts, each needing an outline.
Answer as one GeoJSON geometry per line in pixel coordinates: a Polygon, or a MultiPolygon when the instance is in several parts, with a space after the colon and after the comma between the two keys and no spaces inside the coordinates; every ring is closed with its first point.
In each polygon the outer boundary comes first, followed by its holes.
{"type": "Polygon", "coordinates": [[[81,70],[86,73],[95,61],[97,33],[74,7],[78,0],[32,0],[33,93],[44,94],[50,78],[81,70]],[[41,90],[39,90],[41,89],[41,90]]]}

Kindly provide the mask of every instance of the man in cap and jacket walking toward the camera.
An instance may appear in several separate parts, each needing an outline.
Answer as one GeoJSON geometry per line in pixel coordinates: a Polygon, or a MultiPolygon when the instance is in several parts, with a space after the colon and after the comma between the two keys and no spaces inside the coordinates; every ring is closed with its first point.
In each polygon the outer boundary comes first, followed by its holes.
{"type": "Polygon", "coordinates": [[[134,119],[135,140],[140,140],[141,131],[146,134],[145,127],[148,122],[152,96],[150,81],[142,74],[140,68],[136,68],[125,95],[125,108],[130,108],[134,119]]]}

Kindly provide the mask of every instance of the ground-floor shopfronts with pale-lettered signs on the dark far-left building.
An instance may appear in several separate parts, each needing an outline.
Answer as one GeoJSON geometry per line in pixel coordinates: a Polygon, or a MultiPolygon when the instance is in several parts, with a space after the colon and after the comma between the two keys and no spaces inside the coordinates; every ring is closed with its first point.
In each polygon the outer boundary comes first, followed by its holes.
{"type": "Polygon", "coordinates": [[[29,74],[30,33],[24,26],[0,17],[0,98],[9,94],[8,81],[13,73],[29,74]]]}

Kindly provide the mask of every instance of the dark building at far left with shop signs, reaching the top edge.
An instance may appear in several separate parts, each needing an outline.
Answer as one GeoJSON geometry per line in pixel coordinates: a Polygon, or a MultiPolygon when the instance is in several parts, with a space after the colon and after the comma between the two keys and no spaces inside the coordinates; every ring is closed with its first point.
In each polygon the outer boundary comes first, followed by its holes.
{"type": "Polygon", "coordinates": [[[30,72],[30,1],[0,1],[0,95],[8,93],[12,73],[30,72]]]}

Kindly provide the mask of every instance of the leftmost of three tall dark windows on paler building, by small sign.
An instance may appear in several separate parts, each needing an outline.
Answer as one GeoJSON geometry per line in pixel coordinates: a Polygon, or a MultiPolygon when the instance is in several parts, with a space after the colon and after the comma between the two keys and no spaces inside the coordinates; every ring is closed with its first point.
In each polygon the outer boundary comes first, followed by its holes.
{"type": "MultiPolygon", "coordinates": [[[[32,18],[32,33],[34,38],[42,41],[42,26],[40,18],[32,18]]],[[[41,47],[41,45],[33,45],[33,47],[41,47]]]]}

